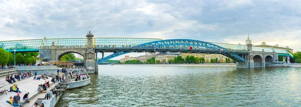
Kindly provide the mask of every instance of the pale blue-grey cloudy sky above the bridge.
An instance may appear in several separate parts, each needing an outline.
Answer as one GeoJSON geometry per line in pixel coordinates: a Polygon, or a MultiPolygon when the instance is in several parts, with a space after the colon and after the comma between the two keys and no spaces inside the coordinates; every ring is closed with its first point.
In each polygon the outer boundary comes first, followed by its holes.
{"type": "Polygon", "coordinates": [[[195,39],[301,51],[300,1],[0,0],[0,40],[85,37],[195,39]]]}

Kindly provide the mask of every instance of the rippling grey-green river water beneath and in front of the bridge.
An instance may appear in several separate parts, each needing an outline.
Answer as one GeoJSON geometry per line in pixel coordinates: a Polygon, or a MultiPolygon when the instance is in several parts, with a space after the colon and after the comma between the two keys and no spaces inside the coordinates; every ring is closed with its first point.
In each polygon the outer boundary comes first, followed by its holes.
{"type": "Polygon", "coordinates": [[[301,68],[99,65],[57,106],[301,106],[301,68]]]}

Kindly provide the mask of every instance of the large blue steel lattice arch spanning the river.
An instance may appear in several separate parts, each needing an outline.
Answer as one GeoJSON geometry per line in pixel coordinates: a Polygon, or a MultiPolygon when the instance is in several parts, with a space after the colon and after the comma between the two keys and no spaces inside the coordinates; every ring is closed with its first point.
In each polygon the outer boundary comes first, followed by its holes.
{"type": "MultiPolygon", "coordinates": [[[[111,50],[111,48],[102,50],[106,52],[106,50],[111,50]]],[[[154,41],[129,48],[117,48],[115,50],[117,51],[103,59],[100,59],[99,61],[97,61],[97,63],[103,62],[113,57],[127,54],[129,52],[188,52],[222,54],[237,62],[246,62],[245,58],[243,58],[243,55],[246,55],[248,53],[246,50],[231,50],[209,42],[191,39],[169,39],[154,41]]]]}

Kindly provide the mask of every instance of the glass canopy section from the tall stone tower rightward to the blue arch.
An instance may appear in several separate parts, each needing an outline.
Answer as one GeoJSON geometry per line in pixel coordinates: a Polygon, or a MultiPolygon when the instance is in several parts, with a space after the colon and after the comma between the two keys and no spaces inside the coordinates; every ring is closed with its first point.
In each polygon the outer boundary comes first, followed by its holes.
{"type": "Polygon", "coordinates": [[[96,48],[122,48],[133,47],[143,43],[161,41],[150,38],[94,38],[96,48]]]}

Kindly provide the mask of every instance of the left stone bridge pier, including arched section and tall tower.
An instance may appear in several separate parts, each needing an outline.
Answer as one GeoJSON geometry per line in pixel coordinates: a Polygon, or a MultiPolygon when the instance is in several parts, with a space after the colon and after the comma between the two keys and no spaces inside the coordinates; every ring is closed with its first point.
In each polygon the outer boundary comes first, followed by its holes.
{"type": "Polygon", "coordinates": [[[61,57],[68,53],[77,53],[84,58],[84,67],[92,68],[98,73],[98,64],[95,61],[95,46],[93,45],[93,34],[89,32],[86,37],[85,46],[56,46],[54,42],[50,48],[39,49],[40,58],[44,58],[43,62],[60,61],[61,57]]]}

